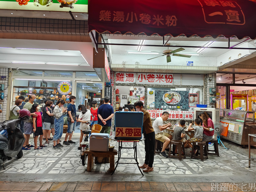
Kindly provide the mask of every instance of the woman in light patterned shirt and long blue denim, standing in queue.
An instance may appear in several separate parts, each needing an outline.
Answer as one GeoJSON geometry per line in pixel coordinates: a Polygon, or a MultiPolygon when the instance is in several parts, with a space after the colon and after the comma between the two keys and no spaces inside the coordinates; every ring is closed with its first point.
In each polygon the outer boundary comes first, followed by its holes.
{"type": "Polygon", "coordinates": [[[53,136],[53,149],[61,149],[63,145],[60,144],[60,139],[63,133],[63,124],[64,124],[64,117],[63,113],[66,112],[67,109],[62,109],[65,101],[63,99],[59,99],[54,107],[53,114],[55,116],[54,120],[54,136],[53,136]]]}

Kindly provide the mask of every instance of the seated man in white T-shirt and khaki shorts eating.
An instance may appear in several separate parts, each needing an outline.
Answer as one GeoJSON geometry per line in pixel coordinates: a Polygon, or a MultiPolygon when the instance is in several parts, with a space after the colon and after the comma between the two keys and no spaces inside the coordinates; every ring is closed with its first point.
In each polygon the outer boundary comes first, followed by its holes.
{"type": "Polygon", "coordinates": [[[162,116],[157,117],[154,120],[154,123],[153,123],[153,128],[154,128],[154,131],[155,131],[155,139],[164,143],[163,147],[162,147],[162,151],[160,153],[160,155],[164,158],[168,157],[165,154],[165,149],[166,149],[167,146],[169,146],[170,141],[172,140],[172,137],[173,137],[172,135],[163,132],[166,128],[172,126],[171,123],[168,123],[168,124],[165,124],[165,125],[163,123],[163,121],[166,121],[168,119],[168,117],[169,117],[169,113],[165,111],[164,113],[162,113],[162,116]]]}

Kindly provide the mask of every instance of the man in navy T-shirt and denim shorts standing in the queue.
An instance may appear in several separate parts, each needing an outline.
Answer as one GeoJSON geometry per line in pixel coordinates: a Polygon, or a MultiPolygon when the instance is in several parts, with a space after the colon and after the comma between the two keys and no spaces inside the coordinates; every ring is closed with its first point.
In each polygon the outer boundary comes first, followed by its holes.
{"type": "Polygon", "coordinates": [[[77,122],[77,117],[76,117],[76,105],[74,104],[76,102],[76,97],[71,95],[69,97],[69,105],[68,105],[68,116],[70,117],[70,120],[68,120],[68,130],[65,136],[65,140],[63,141],[63,145],[70,145],[72,143],[76,143],[73,142],[71,140],[72,135],[73,135],[73,131],[75,131],[76,129],[76,122],[77,122]],[[69,140],[67,140],[69,137],[69,140]]]}

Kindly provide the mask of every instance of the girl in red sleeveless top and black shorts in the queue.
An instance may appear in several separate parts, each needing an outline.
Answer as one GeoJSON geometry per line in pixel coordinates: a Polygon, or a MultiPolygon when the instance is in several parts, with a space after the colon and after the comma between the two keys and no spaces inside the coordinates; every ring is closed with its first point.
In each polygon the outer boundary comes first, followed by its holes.
{"type": "Polygon", "coordinates": [[[32,105],[32,108],[30,110],[30,113],[35,113],[38,116],[33,117],[33,131],[34,131],[34,144],[35,144],[35,148],[34,149],[43,149],[43,147],[47,147],[46,145],[43,145],[43,124],[42,124],[42,116],[41,113],[39,112],[40,107],[38,106],[37,103],[35,103],[34,105],[32,105]],[[40,145],[37,146],[37,138],[39,137],[39,142],[40,145]]]}

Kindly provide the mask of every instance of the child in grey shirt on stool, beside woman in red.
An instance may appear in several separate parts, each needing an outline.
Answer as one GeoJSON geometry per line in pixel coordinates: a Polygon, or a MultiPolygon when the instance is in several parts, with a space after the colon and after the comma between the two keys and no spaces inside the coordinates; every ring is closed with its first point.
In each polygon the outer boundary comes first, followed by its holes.
{"type": "MultiPolygon", "coordinates": [[[[201,122],[200,122],[200,119],[196,118],[194,120],[194,124],[195,126],[194,127],[191,127],[192,123],[189,124],[189,127],[188,127],[188,131],[192,131],[192,130],[195,130],[195,133],[194,133],[194,137],[190,138],[187,140],[187,145],[192,148],[192,142],[201,142],[202,139],[203,139],[203,127],[201,126],[201,122]]],[[[194,153],[197,153],[198,151],[198,148],[196,147],[195,148],[195,152],[194,153]]],[[[191,151],[190,151],[191,152],[191,151]]]]}

